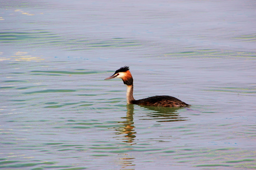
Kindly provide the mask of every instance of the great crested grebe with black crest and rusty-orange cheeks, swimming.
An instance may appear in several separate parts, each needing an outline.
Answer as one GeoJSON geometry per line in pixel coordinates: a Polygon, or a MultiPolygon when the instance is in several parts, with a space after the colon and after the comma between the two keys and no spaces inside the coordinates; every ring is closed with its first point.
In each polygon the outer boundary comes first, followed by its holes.
{"type": "Polygon", "coordinates": [[[133,78],[129,71],[129,67],[121,67],[116,72],[105,80],[112,78],[121,78],[124,84],[127,86],[126,99],[127,104],[138,104],[142,106],[160,106],[160,107],[186,107],[189,104],[182,102],[181,100],[167,95],[153,96],[145,99],[135,100],[133,98],[133,78]]]}

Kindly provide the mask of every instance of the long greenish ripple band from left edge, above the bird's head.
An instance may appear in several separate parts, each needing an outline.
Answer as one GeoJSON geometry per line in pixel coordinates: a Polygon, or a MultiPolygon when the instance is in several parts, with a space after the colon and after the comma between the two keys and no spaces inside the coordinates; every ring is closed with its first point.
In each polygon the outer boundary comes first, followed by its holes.
{"type": "Polygon", "coordinates": [[[137,40],[124,38],[112,38],[109,40],[90,40],[85,37],[81,38],[81,36],[77,36],[77,38],[69,38],[60,36],[48,30],[34,30],[28,32],[2,31],[0,32],[0,42],[6,44],[27,44],[28,46],[33,47],[55,45],[61,46],[67,51],[89,50],[95,48],[124,48],[142,45],[137,40]]]}

